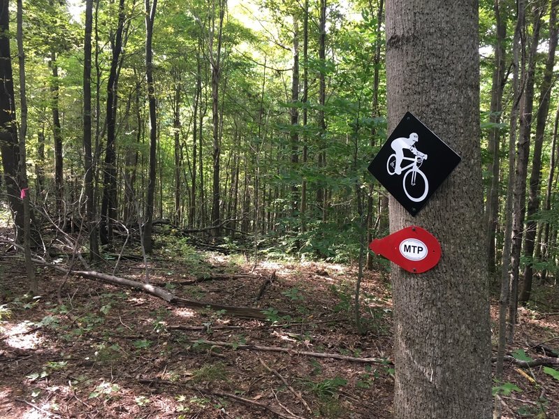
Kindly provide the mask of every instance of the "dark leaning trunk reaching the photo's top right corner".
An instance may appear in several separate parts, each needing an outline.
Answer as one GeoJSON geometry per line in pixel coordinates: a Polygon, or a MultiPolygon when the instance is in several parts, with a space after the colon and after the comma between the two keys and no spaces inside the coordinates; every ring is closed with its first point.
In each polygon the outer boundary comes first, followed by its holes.
{"type": "Polygon", "coordinates": [[[539,210],[539,179],[542,173],[542,146],[544,145],[544,131],[546,129],[547,115],[549,114],[549,101],[551,98],[551,87],[553,77],[553,66],[555,65],[555,52],[557,48],[557,7],[559,0],[551,2],[551,14],[549,18],[549,54],[547,56],[546,67],[544,70],[544,80],[539,91],[539,107],[536,116],[536,135],[534,138],[534,154],[532,156],[532,173],[530,174],[530,194],[528,196],[528,211],[526,212],[526,235],[524,240],[524,256],[527,263],[524,267],[523,282],[518,301],[527,302],[530,300],[532,292],[532,277],[534,275],[534,249],[536,239],[537,223],[533,216],[539,210]]]}

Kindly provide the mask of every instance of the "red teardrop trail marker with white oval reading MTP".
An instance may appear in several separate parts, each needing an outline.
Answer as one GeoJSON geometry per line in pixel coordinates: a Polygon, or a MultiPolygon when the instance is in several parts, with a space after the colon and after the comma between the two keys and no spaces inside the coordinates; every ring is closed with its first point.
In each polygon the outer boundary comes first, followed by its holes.
{"type": "Polygon", "coordinates": [[[412,226],[402,228],[369,245],[375,253],[391,260],[396,265],[421,274],[435,267],[441,258],[441,245],[427,230],[412,226]]]}

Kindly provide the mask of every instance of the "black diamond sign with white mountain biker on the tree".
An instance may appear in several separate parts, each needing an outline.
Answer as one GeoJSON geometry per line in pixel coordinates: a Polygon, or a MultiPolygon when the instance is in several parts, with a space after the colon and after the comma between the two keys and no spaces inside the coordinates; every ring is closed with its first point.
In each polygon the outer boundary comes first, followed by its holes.
{"type": "Polygon", "coordinates": [[[369,171],[409,214],[416,216],[460,163],[460,156],[411,112],[396,126],[369,171]]]}

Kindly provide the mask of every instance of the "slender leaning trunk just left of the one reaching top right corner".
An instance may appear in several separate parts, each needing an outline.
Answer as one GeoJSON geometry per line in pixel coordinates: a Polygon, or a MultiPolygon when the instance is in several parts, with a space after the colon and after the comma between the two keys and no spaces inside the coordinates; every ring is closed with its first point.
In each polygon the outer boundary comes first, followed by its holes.
{"type": "Polygon", "coordinates": [[[512,220],[511,247],[511,297],[509,302],[509,341],[514,339],[514,325],[516,324],[516,310],[518,307],[518,274],[522,249],[523,228],[526,205],[526,177],[528,177],[528,157],[530,156],[530,135],[532,131],[532,110],[534,108],[534,75],[536,66],[537,44],[541,27],[543,9],[535,6],[534,32],[528,57],[525,89],[522,97],[523,106],[520,114],[520,133],[516,145],[516,168],[514,174],[514,205],[512,220]]]}

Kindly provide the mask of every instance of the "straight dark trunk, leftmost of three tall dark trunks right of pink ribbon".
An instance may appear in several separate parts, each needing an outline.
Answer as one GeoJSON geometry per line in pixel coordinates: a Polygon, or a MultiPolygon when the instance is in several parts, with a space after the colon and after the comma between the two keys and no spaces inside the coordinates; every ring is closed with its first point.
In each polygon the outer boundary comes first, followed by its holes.
{"type": "Polygon", "coordinates": [[[97,242],[97,225],[95,214],[95,197],[93,188],[93,154],[92,154],[92,28],[93,0],[85,2],[85,37],[83,65],[83,149],[85,161],[85,207],[89,229],[89,260],[99,259],[97,242]]]}

